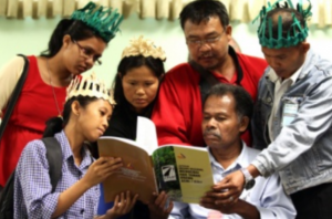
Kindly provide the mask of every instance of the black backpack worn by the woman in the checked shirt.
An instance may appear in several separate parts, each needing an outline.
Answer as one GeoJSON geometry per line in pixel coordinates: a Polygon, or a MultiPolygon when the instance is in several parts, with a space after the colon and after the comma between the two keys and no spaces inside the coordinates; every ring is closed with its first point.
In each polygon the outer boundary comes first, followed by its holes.
{"type": "MultiPolygon", "coordinates": [[[[54,137],[42,138],[42,142],[46,148],[46,159],[50,166],[50,181],[52,185],[52,192],[54,192],[62,175],[62,150],[60,143],[54,137]]],[[[14,175],[15,170],[11,174],[0,197],[0,219],[13,219],[14,175]]]]}

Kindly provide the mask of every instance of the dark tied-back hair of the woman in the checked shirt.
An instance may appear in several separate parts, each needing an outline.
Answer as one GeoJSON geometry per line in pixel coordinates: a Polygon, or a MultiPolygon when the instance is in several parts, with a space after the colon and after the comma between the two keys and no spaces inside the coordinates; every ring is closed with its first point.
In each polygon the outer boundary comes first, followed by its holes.
{"type": "Polygon", "coordinates": [[[74,96],[65,102],[61,117],[52,117],[46,122],[46,127],[43,133],[43,137],[53,137],[55,133],[59,133],[63,129],[64,126],[66,126],[70,115],[72,112],[72,103],[74,101],[77,101],[80,105],[85,108],[90,103],[96,101],[96,97],[90,97],[90,96],[74,96]]]}

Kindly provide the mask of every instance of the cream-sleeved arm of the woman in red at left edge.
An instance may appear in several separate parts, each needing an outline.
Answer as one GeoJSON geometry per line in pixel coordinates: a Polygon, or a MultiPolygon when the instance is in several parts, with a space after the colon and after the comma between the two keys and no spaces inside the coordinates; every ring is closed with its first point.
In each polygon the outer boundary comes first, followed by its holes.
{"type": "Polygon", "coordinates": [[[7,106],[7,103],[22,75],[24,66],[23,58],[17,56],[0,69],[0,109],[7,106]]]}

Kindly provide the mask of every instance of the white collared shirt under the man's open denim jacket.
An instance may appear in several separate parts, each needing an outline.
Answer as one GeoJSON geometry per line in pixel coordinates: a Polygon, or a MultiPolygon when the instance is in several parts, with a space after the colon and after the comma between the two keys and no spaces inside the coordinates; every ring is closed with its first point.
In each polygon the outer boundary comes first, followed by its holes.
{"type": "Polygon", "coordinates": [[[288,88],[297,82],[302,69],[303,69],[303,64],[301,65],[301,67],[298,69],[298,71],[295,73],[293,73],[289,79],[286,79],[283,81],[281,77],[279,77],[276,74],[276,72],[272,69],[269,72],[268,77],[271,82],[274,83],[274,101],[273,101],[273,106],[272,106],[271,115],[269,117],[269,123],[268,123],[269,137],[271,140],[274,140],[274,138],[276,138],[276,136],[273,136],[272,129],[273,129],[273,121],[274,121],[277,111],[279,108],[280,100],[283,96],[283,94],[288,91],[288,88]]]}

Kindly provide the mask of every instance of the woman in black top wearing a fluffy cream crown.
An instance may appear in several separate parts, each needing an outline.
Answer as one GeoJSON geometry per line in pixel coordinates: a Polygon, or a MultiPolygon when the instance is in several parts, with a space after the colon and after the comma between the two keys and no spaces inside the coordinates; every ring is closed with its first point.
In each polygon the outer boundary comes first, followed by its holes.
{"type": "MultiPolygon", "coordinates": [[[[135,140],[137,116],[151,117],[159,84],[165,74],[165,52],[153,41],[139,36],[133,39],[124,49],[117,74],[113,82],[116,106],[105,136],[123,137],[135,140]]],[[[164,208],[167,201],[165,192],[155,195],[154,204],[137,201],[133,211],[122,219],[167,218],[173,204],[164,208]]],[[[103,213],[113,202],[105,204],[101,196],[98,212],[103,213]]]]}

